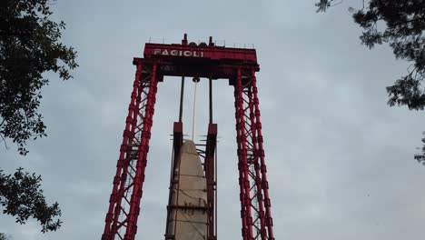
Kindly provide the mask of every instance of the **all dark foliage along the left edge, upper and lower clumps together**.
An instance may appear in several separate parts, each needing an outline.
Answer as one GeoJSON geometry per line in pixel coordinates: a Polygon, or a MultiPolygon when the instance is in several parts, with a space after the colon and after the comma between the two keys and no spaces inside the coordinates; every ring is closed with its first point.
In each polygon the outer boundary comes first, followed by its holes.
{"type": "MultiPolygon", "coordinates": [[[[11,139],[19,154],[26,155],[29,140],[45,136],[38,107],[41,89],[48,85],[45,73],[72,77],[77,67],[72,46],[61,43],[64,22],[50,20],[55,0],[2,0],[0,3],[0,141],[11,139]]],[[[7,145],[6,145],[7,147],[7,145]]],[[[2,159],[3,160],[3,159],[2,159]]],[[[47,205],[40,189],[41,176],[23,172],[5,175],[0,169],[0,204],[3,213],[25,224],[29,217],[42,225],[42,232],[55,231],[62,222],[59,205],[47,205]]],[[[0,234],[0,239],[10,239],[0,234]]]]}

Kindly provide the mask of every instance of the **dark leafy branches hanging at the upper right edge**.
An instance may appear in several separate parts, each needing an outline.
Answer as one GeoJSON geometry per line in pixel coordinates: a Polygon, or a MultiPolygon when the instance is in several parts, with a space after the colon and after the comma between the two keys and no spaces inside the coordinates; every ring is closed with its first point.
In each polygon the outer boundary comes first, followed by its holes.
{"type": "MultiPolygon", "coordinates": [[[[342,1],[320,0],[317,12],[325,12],[342,1]]],[[[387,86],[388,105],[406,105],[410,110],[425,107],[425,1],[423,0],[369,0],[362,1],[361,9],[349,8],[354,22],[363,28],[360,36],[363,45],[388,44],[397,59],[410,63],[407,75],[387,86]]],[[[425,144],[425,138],[422,139],[425,144]]],[[[422,153],[415,155],[425,164],[425,145],[422,153]]]]}

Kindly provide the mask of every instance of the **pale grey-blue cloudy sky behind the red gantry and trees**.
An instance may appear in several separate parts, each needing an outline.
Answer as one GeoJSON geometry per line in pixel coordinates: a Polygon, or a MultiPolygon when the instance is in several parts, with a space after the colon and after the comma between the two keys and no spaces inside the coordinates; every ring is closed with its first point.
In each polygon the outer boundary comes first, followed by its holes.
{"type": "MultiPolygon", "coordinates": [[[[326,15],[315,1],[64,1],[54,18],[80,67],[63,82],[46,75],[41,112],[48,137],[20,157],[11,145],[0,164],[43,175],[63,227],[41,234],[34,221],[0,217],[14,239],[100,239],[133,84],[134,56],[150,37],[254,44],[266,163],[276,239],[422,240],[425,167],[413,160],[424,113],[386,105],[385,86],[406,74],[386,46],[370,51],[344,1],[326,15]]],[[[162,41],[162,40],[161,40],[162,41]]],[[[199,85],[197,135],[207,129],[206,81],[199,85]]],[[[137,239],[163,239],[177,78],[159,85],[137,239]]],[[[191,129],[193,83],[187,82],[184,127],[191,129]]],[[[232,87],[214,82],[219,126],[218,235],[241,238],[232,87]]],[[[186,131],[186,134],[190,134],[186,131]]]]}

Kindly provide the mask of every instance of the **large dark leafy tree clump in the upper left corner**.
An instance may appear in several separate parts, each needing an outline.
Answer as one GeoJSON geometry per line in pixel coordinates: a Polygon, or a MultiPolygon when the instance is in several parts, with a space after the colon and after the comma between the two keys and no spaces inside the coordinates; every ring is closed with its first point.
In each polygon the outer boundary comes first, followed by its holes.
{"type": "MultiPolygon", "coordinates": [[[[53,0],[54,1],[54,0],[53,0]]],[[[78,66],[72,46],[60,42],[64,22],[49,19],[52,0],[3,0],[0,4],[0,136],[17,145],[21,155],[30,139],[45,136],[38,112],[43,74],[66,80],[78,66]]]]}

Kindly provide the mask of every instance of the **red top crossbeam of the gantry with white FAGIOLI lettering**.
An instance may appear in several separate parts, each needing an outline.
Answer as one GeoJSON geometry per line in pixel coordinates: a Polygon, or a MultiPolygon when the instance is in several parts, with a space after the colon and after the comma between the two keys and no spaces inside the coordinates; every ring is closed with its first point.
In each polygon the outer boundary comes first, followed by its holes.
{"type": "Polygon", "coordinates": [[[250,66],[260,71],[255,49],[218,46],[210,36],[209,43],[189,43],[184,34],[182,44],[145,44],[143,58],[134,58],[133,64],[155,62],[158,75],[232,79],[238,67],[250,66]]]}

